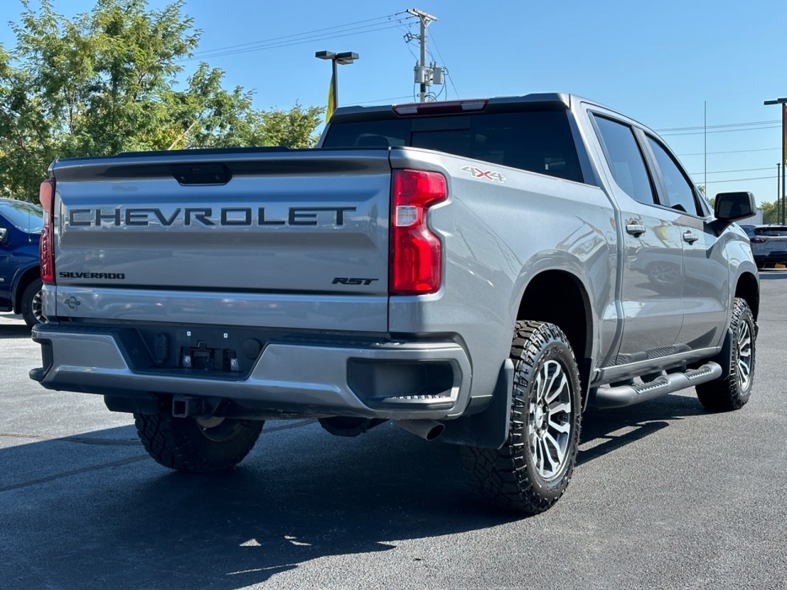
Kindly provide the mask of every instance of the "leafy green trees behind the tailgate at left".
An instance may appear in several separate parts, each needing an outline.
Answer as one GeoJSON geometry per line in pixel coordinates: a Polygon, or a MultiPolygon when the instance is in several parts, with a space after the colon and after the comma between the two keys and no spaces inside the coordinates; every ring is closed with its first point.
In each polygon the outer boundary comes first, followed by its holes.
{"type": "Polygon", "coordinates": [[[189,147],[310,147],[323,109],[254,109],[200,63],[182,83],[200,31],[183,0],[97,0],[69,20],[50,0],[21,0],[17,46],[0,45],[0,195],[35,201],[61,157],[189,147]],[[180,83],[180,85],[179,85],[180,83]]]}

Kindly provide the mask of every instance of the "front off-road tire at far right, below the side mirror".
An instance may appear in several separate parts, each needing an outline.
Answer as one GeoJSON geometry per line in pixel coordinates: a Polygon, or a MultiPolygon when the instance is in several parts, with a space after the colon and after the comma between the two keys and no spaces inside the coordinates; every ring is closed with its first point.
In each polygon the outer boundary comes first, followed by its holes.
{"type": "Polygon", "coordinates": [[[730,358],[726,360],[727,376],[695,388],[700,404],[711,411],[739,410],[752,395],[757,332],[752,310],[745,300],[737,297],[730,330],[733,339],[730,358]]]}

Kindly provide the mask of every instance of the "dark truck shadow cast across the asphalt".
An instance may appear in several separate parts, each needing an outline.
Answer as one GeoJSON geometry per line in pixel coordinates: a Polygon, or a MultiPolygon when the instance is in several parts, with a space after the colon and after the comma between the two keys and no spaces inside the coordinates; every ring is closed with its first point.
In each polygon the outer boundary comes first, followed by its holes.
{"type": "MultiPolygon", "coordinates": [[[[589,411],[581,449],[601,442],[580,451],[575,477],[582,464],[701,413],[682,396],[589,411]]],[[[521,519],[475,501],[452,445],[390,424],[357,439],[314,423],[270,426],[241,466],[216,476],[153,463],[133,426],[0,450],[0,571],[13,573],[4,588],[239,588],[329,555],[521,519]]],[[[415,550],[407,559],[430,557],[415,550]]]]}

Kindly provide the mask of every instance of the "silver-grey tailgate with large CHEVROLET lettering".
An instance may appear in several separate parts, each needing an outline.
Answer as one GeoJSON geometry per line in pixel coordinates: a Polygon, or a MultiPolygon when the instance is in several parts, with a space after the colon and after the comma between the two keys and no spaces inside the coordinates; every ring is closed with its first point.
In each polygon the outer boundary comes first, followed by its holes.
{"type": "MultiPolygon", "coordinates": [[[[386,308],[386,150],[91,158],[53,173],[58,292],[246,293],[301,309],[373,297],[386,308]]],[[[73,315],[57,299],[57,314],[73,315]]]]}

